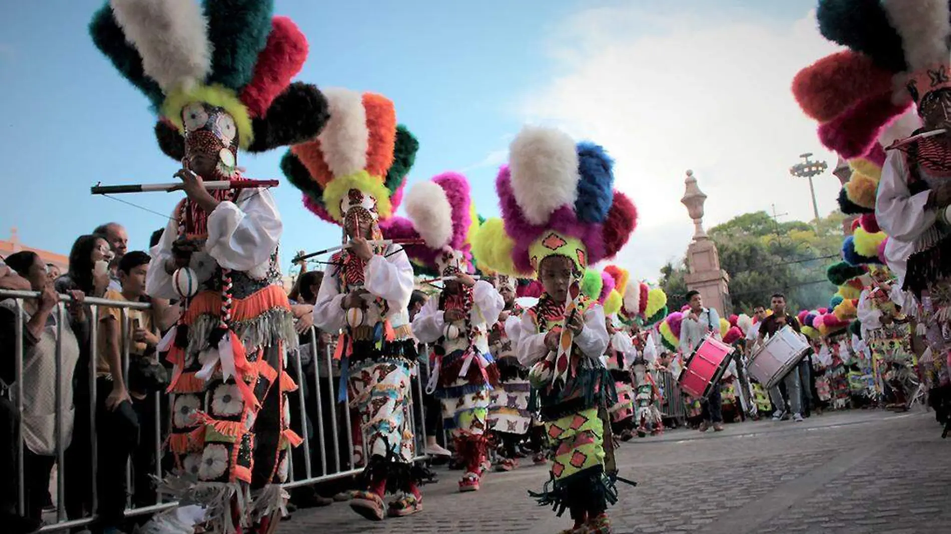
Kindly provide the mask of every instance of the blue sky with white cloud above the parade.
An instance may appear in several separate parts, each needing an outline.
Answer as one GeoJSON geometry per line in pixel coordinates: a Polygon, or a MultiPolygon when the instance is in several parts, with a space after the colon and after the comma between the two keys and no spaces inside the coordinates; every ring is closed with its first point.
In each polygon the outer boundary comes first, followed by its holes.
{"type": "MultiPolygon", "coordinates": [[[[29,246],[68,254],[100,223],[126,226],[145,249],[181,193],[89,194],[103,184],[175,181],[176,162],[152,135],[146,99],[87,35],[99,0],[0,6],[0,179],[11,227],[29,246]],[[42,28],[42,31],[37,29],[42,28]],[[150,213],[152,210],[156,213],[150,213]]],[[[656,279],[693,232],[680,203],[687,169],[707,193],[705,225],[773,206],[812,219],[808,183],[789,176],[804,152],[836,158],[816,138],[789,86],[836,48],[816,29],[815,0],[275,0],[307,35],[299,80],[392,99],[420,148],[410,182],[444,171],[470,179],[476,208],[498,214],[494,180],[523,124],[565,129],[615,159],[615,187],[639,210],[616,259],[656,279]]],[[[284,150],[241,155],[246,176],[282,179],[284,150]]],[[[815,181],[819,211],[836,208],[839,182],[815,181]]],[[[296,251],[340,241],[337,227],[301,205],[283,181],[284,268],[296,251]]]]}

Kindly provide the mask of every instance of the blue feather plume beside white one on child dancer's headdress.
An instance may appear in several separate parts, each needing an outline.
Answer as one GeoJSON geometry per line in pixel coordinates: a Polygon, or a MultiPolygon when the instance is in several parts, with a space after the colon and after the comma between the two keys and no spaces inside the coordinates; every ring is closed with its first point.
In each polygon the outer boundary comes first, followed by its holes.
{"type": "Polygon", "coordinates": [[[578,199],[574,211],[581,222],[597,223],[608,219],[614,200],[614,161],[604,148],[594,143],[578,143],[578,199]]]}

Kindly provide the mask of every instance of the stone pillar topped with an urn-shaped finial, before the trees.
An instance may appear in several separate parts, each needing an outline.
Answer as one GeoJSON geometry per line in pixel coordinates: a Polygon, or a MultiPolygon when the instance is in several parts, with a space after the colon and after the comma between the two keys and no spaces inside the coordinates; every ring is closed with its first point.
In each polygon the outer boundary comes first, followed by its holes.
{"type": "Polygon", "coordinates": [[[732,310],[729,300],[729,275],[720,268],[720,255],[704,230],[704,202],[707,195],[697,186],[693,171],[687,171],[687,191],[680,201],[687,206],[693,219],[693,240],[687,248],[688,273],[684,277],[689,290],[696,290],[704,297],[704,306],[715,309],[721,317],[732,310]]]}

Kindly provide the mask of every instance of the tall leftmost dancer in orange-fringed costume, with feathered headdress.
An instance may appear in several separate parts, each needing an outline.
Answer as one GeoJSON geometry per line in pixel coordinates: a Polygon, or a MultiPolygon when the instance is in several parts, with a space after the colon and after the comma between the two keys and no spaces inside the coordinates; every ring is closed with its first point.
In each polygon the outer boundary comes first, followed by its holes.
{"type": "Polygon", "coordinates": [[[160,147],[182,169],[186,199],[152,248],[146,293],[184,298],[159,345],[174,365],[168,448],[177,471],[163,491],[204,506],[204,528],[273,530],[287,448],[300,438],[282,417],[295,384],[283,372],[297,345],[281,283],[281,216],[266,189],[208,191],[241,182],[239,149],[262,152],[320,133],[326,102],[290,84],[307,44],[271,4],[115,0],[92,39],[153,109],[160,147]]]}

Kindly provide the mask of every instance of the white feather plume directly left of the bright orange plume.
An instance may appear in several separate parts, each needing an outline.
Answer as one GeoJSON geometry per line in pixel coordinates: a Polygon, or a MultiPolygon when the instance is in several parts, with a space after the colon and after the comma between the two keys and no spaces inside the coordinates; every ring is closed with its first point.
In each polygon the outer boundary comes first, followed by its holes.
{"type": "Polygon", "coordinates": [[[324,89],[323,95],[330,111],[330,120],[318,136],[323,161],[335,177],[359,172],[366,168],[370,143],[363,95],[340,87],[324,89]]]}

